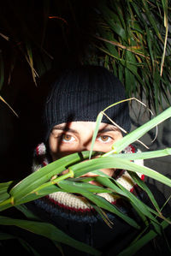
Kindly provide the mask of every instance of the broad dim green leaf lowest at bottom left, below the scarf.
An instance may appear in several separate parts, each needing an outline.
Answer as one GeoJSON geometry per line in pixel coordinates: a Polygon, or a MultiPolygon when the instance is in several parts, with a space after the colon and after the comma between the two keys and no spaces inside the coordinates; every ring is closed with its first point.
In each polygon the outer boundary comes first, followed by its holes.
{"type": "Polygon", "coordinates": [[[21,229],[27,229],[28,231],[34,234],[43,235],[44,237],[47,237],[50,240],[62,242],[80,251],[91,253],[92,255],[100,255],[100,253],[96,249],[89,247],[88,245],[85,245],[83,242],[74,240],[72,237],[66,235],[64,232],[62,232],[60,229],[57,229],[54,225],[50,223],[0,216],[0,224],[15,225],[21,229]]]}

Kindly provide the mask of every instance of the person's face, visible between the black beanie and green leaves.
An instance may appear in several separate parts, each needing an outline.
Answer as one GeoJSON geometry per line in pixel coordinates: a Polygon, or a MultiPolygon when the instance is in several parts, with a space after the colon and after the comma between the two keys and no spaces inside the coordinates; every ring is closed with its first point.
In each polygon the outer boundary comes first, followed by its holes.
{"type": "MultiPolygon", "coordinates": [[[[53,161],[74,152],[90,151],[95,126],[96,122],[68,122],[56,125],[49,138],[50,155],[53,161]]],[[[119,128],[101,123],[93,151],[109,152],[114,142],[121,138],[122,134],[119,128]]],[[[102,171],[109,176],[114,173],[114,169],[103,169],[102,171]]],[[[89,174],[86,176],[91,176],[89,174]]]]}

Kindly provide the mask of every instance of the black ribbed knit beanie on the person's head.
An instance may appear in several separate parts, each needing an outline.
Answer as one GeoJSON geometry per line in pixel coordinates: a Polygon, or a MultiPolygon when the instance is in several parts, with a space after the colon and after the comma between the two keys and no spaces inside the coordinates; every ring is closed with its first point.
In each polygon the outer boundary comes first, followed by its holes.
{"type": "MultiPolygon", "coordinates": [[[[81,66],[67,70],[52,85],[44,106],[44,139],[62,122],[96,122],[98,113],[125,99],[124,86],[108,69],[81,66]]],[[[130,131],[128,104],[117,104],[105,112],[121,128],[130,131]]],[[[102,122],[110,123],[106,116],[102,122]]]]}

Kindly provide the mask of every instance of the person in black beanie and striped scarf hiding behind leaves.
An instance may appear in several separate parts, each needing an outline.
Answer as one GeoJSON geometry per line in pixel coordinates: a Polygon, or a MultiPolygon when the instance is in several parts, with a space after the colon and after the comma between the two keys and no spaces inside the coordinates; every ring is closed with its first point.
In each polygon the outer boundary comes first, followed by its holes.
{"type": "MultiPolygon", "coordinates": [[[[81,66],[67,70],[55,81],[44,104],[44,142],[36,148],[32,171],[68,154],[90,151],[98,113],[110,104],[123,99],[125,99],[124,86],[106,68],[81,66]]],[[[103,116],[93,151],[109,152],[114,142],[121,140],[125,135],[122,129],[128,133],[130,131],[127,102],[109,108],[106,114],[115,125],[103,116]]],[[[122,153],[137,151],[135,146],[131,145],[122,153]]],[[[139,161],[138,164],[143,162],[139,161]]],[[[114,177],[139,199],[144,200],[144,193],[133,182],[127,170],[103,169],[102,171],[114,177]]],[[[90,177],[94,174],[86,173],[85,176],[90,177]]],[[[144,179],[144,176],[139,176],[144,179]]],[[[96,180],[91,181],[91,184],[100,186],[96,180]]],[[[99,193],[99,196],[140,223],[138,214],[126,200],[116,199],[115,195],[110,193],[99,193]]],[[[138,234],[136,229],[121,218],[105,211],[113,223],[109,227],[91,206],[90,201],[80,194],[51,193],[30,205],[38,217],[53,223],[74,239],[97,248],[105,256],[121,252],[138,234]]],[[[87,255],[66,245],[63,245],[62,250],[67,256],[87,255]]],[[[50,252],[50,248],[47,252],[50,252]]]]}

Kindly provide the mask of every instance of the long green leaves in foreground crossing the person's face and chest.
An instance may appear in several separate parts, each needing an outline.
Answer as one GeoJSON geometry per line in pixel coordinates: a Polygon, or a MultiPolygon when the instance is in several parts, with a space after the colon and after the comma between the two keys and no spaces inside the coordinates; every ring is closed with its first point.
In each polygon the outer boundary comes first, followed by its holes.
{"type": "MultiPolygon", "coordinates": [[[[127,154],[121,154],[121,151],[126,146],[133,143],[133,141],[139,140],[139,138],[151,128],[156,127],[157,124],[168,119],[171,116],[171,107],[163,111],[159,116],[156,116],[149,122],[145,123],[140,128],[137,128],[131,134],[127,134],[127,136],[125,136],[122,140],[116,141],[110,152],[103,154],[101,153],[100,158],[91,159],[91,156],[94,156],[97,153],[92,151],[93,141],[96,139],[97,129],[103,114],[104,111],[97,116],[97,127],[92,139],[91,152],[82,152],[82,156],[80,156],[78,153],[74,153],[67,157],[61,158],[32,173],[30,176],[27,176],[17,184],[16,182],[5,182],[0,184],[0,211],[4,211],[11,207],[16,207],[27,217],[27,220],[14,219],[11,217],[5,217],[2,214],[0,217],[1,225],[15,225],[21,229],[27,229],[37,235],[43,235],[44,237],[47,237],[51,241],[57,243],[57,247],[60,250],[62,248],[59,246],[59,243],[63,243],[68,244],[71,247],[75,247],[81,251],[89,252],[93,255],[100,254],[100,252],[98,252],[96,249],[91,248],[80,241],[75,241],[72,237],[64,234],[60,229],[57,229],[52,224],[43,223],[40,219],[35,218],[35,216],[32,215],[32,212],[27,209],[27,206],[24,205],[29,201],[41,198],[49,193],[63,191],[68,193],[80,193],[86,199],[90,200],[92,205],[94,205],[95,209],[99,214],[101,214],[107,223],[108,219],[105,218],[103,210],[115,213],[115,215],[121,217],[125,222],[132,225],[135,229],[139,229],[139,237],[137,240],[135,240],[130,247],[126,248],[122,253],[120,253],[120,255],[129,255],[130,253],[133,255],[133,253],[137,252],[140,247],[143,247],[144,244],[153,239],[156,235],[162,234],[162,229],[165,229],[171,223],[170,218],[166,218],[162,215],[162,209],[160,209],[157,205],[156,199],[150,192],[150,189],[147,188],[144,182],[140,180],[136,172],[149,176],[156,181],[162,182],[169,188],[171,187],[171,180],[155,170],[134,164],[133,160],[168,156],[171,154],[171,148],[154,152],[127,154]],[[83,159],[88,158],[88,161],[83,161],[83,159]],[[150,206],[145,205],[142,201],[137,199],[133,193],[130,193],[126,188],[123,188],[121,184],[116,182],[115,179],[104,175],[100,171],[100,169],[103,168],[128,170],[133,180],[149,195],[154,208],[150,208],[150,206]],[[66,169],[68,169],[67,174],[58,176],[63,170],[66,169]],[[96,180],[105,186],[105,188],[91,185],[90,183],[87,183],[87,180],[84,177],[80,177],[86,172],[90,171],[93,171],[98,175],[96,177],[91,177],[91,180],[96,180]],[[54,176],[56,176],[55,179],[54,176]],[[116,193],[121,198],[127,199],[142,218],[145,227],[144,230],[140,229],[139,223],[136,223],[133,218],[127,217],[127,215],[119,211],[115,205],[109,204],[108,201],[99,197],[96,193],[116,193]],[[162,219],[162,222],[158,219],[162,219]],[[150,226],[153,228],[150,229],[150,226]],[[149,229],[149,231],[144,233],[146,229],[149,229]]],[[[17,237],[10,234],[1,233],[0,235],[1,240],[12,238],[17,239],[17,237]]],[[[22,241],[22,243],[26,243],[26,241],[22,241]]],[[[31,249],[32,252],[35,253],[32,247],[31,249]]]]}

